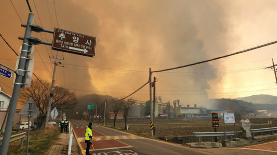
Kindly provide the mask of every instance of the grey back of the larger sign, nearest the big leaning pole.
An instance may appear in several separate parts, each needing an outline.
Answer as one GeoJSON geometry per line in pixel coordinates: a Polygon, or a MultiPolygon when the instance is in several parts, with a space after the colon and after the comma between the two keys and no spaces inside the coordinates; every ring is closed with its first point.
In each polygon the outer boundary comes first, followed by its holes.
{"type": "Polygon", "coordinates": [[[39,110],[38,110],[33,98],[30,97],[29,100],[25,103],[25,105],[19,112],[19,114],[21,114],[21,118],[28,118],[29,106],[31,106],[30,118],[36,118],[36,115],[39,114],[39,110]],[[31,104],[29,104],[29,103],[31,103],[31,104]]]}

